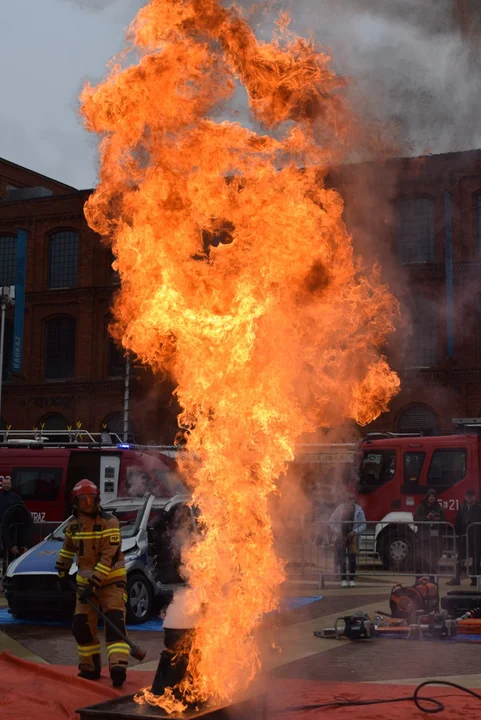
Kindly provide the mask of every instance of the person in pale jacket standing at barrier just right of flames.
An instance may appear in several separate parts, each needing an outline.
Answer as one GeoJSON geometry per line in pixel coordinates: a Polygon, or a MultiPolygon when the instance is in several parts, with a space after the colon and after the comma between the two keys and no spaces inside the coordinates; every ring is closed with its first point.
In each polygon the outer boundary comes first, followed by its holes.
{"type": "Polygon", "coordinates": [[[366,516],[353,493],[348,493],[346,500],[334,510],[329,525],[334,536],[335,562],[341,573],[341,587],[356,587],[359,536],[366,529],[366,516]],[[348,561],[349,583],[346,573],[348,561]]]}

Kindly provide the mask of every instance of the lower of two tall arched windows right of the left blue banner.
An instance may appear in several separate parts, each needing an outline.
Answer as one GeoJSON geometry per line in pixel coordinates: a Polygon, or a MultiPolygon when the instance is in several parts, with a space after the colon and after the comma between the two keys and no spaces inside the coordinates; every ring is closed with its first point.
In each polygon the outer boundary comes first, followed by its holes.
{"type": "Polygon", "coordinates": [[[45,377],[67,380],[75,373],[75,318],[65,315],[46,322],[45,377]]]}

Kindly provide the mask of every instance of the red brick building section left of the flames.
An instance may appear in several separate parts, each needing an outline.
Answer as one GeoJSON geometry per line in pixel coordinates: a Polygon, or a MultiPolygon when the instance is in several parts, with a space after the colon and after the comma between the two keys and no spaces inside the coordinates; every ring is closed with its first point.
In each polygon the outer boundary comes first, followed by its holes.
{"type": "MultiPolygon", "coordinates": [[[[121,432],[125,359],[108,335],[118,278],[112,256],[90,230],[89,190],[0,159],[0,285],[15,282],[16,233],[28,232],[23,367],[13,375],[13,310],[7,311],[2,424],[64,429],[81,422],[121,432]]],[[[171,393],[145,369],[131,374],[131,432],[170,442],[171,393]]]]}

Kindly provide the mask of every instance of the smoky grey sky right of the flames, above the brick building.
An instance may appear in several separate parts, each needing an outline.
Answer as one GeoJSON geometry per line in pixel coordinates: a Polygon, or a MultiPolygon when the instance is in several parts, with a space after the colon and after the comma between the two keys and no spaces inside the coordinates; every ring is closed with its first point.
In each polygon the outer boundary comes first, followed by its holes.
{"type": "Polygon", "coordinates": [[[283,6],[296,33],[311,31],[332,49],[334,68],[352,79],[356,105],[394,125],[403,154],[481,145],[480,3],[292,0],[283,6]]]}

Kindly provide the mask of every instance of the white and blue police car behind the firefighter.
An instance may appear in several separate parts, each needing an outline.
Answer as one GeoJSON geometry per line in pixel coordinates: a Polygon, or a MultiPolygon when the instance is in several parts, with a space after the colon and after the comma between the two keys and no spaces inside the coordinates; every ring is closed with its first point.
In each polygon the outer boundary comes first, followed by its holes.
{"type": "MultiPolygon", "coordinates": [[[[168,602],[184,584],[179,574],[181,545],[196,532],[186,495],[173,498],[116,498],[103,504],[120,523],[127,570],[127,622],[142,623],[155,605],[168,602]]],[[[4,580],[10,611],[18,617],[72,612],[75,592],[62,587],[55,563],[68,520],[14,560],[4,580]]],[[[72,581],[76,566],[71,568],[72,581]]],[[[73,584],[73,583],[72,583],[73,584]]]]}

